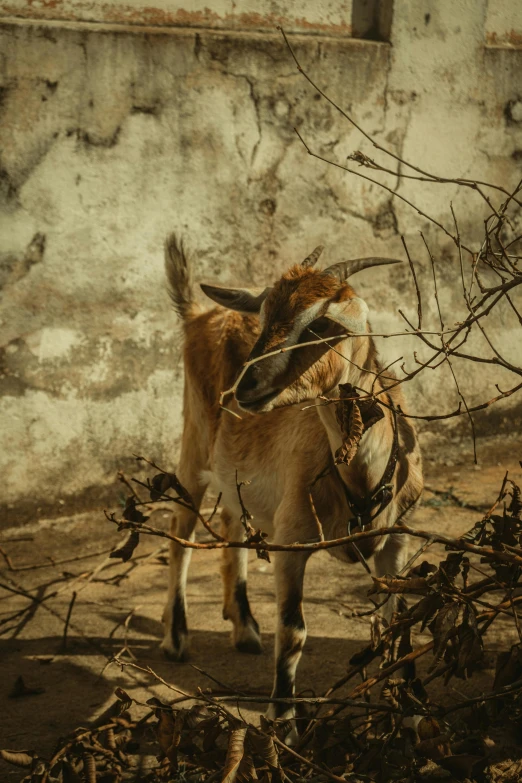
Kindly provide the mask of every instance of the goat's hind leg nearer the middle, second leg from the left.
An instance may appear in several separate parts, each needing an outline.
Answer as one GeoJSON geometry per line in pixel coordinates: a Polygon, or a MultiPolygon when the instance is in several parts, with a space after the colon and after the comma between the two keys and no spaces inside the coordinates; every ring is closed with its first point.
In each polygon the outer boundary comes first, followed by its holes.
{"type": "MultiPolygon", "coordinates": [[[[242,541],[245,531],[241,522],[224,509],[221,535],[229,541],[242,541]]],[[[259,625],[250,611],[247,595],[248,549],[223,549],[223,618],[233,623],[232,641],[240,652],[262,652],[259,625]]]]}

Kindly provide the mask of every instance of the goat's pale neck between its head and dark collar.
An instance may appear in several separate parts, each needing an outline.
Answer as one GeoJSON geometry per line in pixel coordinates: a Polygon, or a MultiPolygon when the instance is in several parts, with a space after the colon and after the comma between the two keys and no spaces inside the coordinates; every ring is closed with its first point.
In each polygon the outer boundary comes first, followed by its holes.
{"type": "MultiPolygon", "coordinates": [[[[375,347],[371,338],[359,338],[358,343],[357,347],[354,346],[355,350],[351,351],[358,367],[346,362],[346,369],[339,384],[331,389],[328,397],[339,399],[339,385],[343,383],[351,383],[368,392],[371,390],[375,373],[378,372],[375,347]]],[[[340,352],[344,353],[342,349],[340,352]]],[[[376,389],[380,390],[381,388],[382,386],[377,382],[376,389]]],[[[335,457],[337,449],[343,444],[343,433],[336,417],[336,405],[320,406],[317,411],[328,435],[332,455],[335,457]]],[[[392,437],[391,417],[389,411],[384,409],[384,418],[376,422],[363,435],[357,453],[350,464],[338,466],[342,480],[352,491],[357,494],[366,494],[367,491],[375,488],[381,480],[390,456],[392,437]]]]}

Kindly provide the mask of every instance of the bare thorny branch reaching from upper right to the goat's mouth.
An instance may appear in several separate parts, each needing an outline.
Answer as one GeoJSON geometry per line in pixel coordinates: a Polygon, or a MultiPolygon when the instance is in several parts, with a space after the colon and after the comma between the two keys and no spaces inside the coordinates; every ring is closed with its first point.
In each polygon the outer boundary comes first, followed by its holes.
{"type": "MultiPolygon", "coordinates": [[[[435,225],[439,230],[443,231],[446,237],[448,237],[451,240],[451,242],[455,245],[457,250],[457,255],[458,255],[460,281],[461,281],[462,295],[463,295],[462,301],[465,307],[465,314],[464,317],[461,318],[461,320],[455,321],[455,313],[452,312],[451,320],[453,321],[453,324],[448,323],[447,326],[445,327],[444,322],[448,322],[449,319],[448,316],[445,316],[442,311],[442,304],[440,302],[439,294],[437,290],[436,260],[433,253],[430,250],[428,242],[426,241],[424,235],[421,233],[421,238],[423,240],[425,249],[427,251],[428,261],[432,270],[432,282],[433,282],[432,291],[429,290],[423,291],[421,289],[421,285],[419,284],[419,277],[416,272],[415,263],[411,257],[411,253],[409,252],[404,237],[401,237],[405,254],[408,259],[408,264],[410,267],[413,284],[415,287],[415,295],[417,301],[417,327],[415,327],[412,324],[411,320],[407,317],[407,315],[402,310],[399,310],[399,314],[406,321],[408,327],[410,328],[410,331],[390,332],[387,334],[367,333],[366,335],[357,335],[357,336],[358,337],[361,336],[383,337],[383,338],[404,337],[406,335],[413,336],[416,337],[418,340],[420,340],[421,343],[423,344],[424,349],[429,349],[431,353],[427,359],[420,361],[417,358],[416,352],[414,352],[413,356],[414,356],[415,363],[417,364],[417,367],[415,369],[408,371],[403,364],[401,366],[402,375],[400,377],[390,378],[384,376],[383,380],[386,382],[382,383],[380,388],[376,387],[374,381],[370,391],[368,391],[368,389],[363,390],[359,388],[357,388],[357,391],[366,394],[368,397],[381,398],[381,402],[382,402],[382,397],[386,398],[387,392],[390,389],[392,389],[394,386],[412,381],[414,378],[417,378],[417,376],[420,373],[423,373],[428,369],[436,370],[439,367],[447,365],[448,370],[450,372],[450,376],[453,379],[453,383],[455,385],[457,397],[459,399],[458,407],[455,410],[450,410],[447,413],[439,413],[437,411],[434,414],[406,413],[405,411],[402,411],[400,409],[397,409],[396,412],[401,416],[410,417],[418,420],[424,420],[424,421],[440,421],[444,419],[450,419],[457,416],[466,415],[471,425],[471,434],[473,438],[473,448],[474,448],[475,461],[476,461],[476,434],[475,434],[475,425],[474,425],[472,414],[477,411],[485,410],[486,408],[489,408],[491,405],[499,402],[500,400],[507,399],[508,397],[511,397],[512,395],[516,394],[522,388],[522,383],[517,383],[515,385],[510,384],[510,387],[505,391],[502,391],[499,388],[499,384],[496,383],[495,386],[497,388],[497,391],[499,392],[498,394],[496,394],[495,396],[489,396],[489,399],[486,399],[483,402],[478,402],[472,405],[468,403],[466,397],[464,396],[462,388],[457,379],[457,370],[452,360],[453,359],[461,360],[461,362],[464,363],[463,364],[464,370],[465,370],[465,363],[476,362],[476,363],[485,363],[496,367],[500,367],[503,370],[507,371],[508,373],[512,373],[519,377],[522,376],[522,363],[521,363],[522,360],[519,360],[518,362],[513,362],[508,360],[508,358],[504,355],[503,347],[499,348],[498,346],[493,345],[484,327],[484,321],[491,315],[493,311],[497,315],[500,312],[502,312],[502,316],[504,318],[507,318],[508,315],[511,314],[512,316],[515,317],[518,327],[520,327],[520,325],[522,324],[522,317],[519,311],[517,310],[516,306],[514,305],[510,296],[510,294],[512,294],[513,291],[522,284],[522,270],[520,270],[518,266],[519,261],[522,258],[522,255],[521,255],[521,251],[518,251],[518,253],[517,251],[515,251],[514,253],[508,252],[511,248],[513,247],[519,248],[522,245],[522,235],[516,233],[513,227],[514,221],[512,220],[513,208],[520,209],[520,207],[522,207],[522,200],[519,197],[519,194],[522,191],[522,180],[516,185],[516,187],[513,190],[510,191],[506,187],[494,183],[483,182],[478,180],[475,181],[472,179],[467,179],[462,177],[455,177],[455,178],[441,177],[431,172],[428,172],[424,168],[421,168],[420,166],[417,166],[405,160],[404,158],[402,158],[401,156],[393,152],[393,150],[382,146],[381,144],[379,144],[378,141],[376,141],[376,139],[371,134],[367,133],[364,130],[364,128],[362,128],[348,112],[346,112],[341,106],[339,106],[334,100],[332,100],[332,98],[318,86],[316,81],[314,81],[310,77],[310,75],[306,72],[306,70],[304,70],[301,63],[299,62],[299,59],[293,47],[291,46],[284,30],[282,30],[282,28],[279,29],[281,30],[284,42],[288,48],[288,51],[292,59],[294,60],[297,66],[298,71],[307,80],[307,82],[313,88],[313,90],[315,90],[315,92],[318,95],[324,98],[335,109],[335,111],[337,111],[344,120],[350,123],[350,125],[352,125],[367,141],[369,141],[380,154],[391,158],[394,164],[397,165],[397,170],[389,168],[386,165],[382,165],[381,163],[369,158],[367,155],[365,155],[360,151],[355,151],[354,153],[349,155],[348,158],[350,160],[357,163],[360,167],[370,169],[372,172],[393,174],[394,176],[399,178],[399,181],[401,178],[416,179],[426,183],[427,185],[450,184],[450,185],[457,186],[458,188],[464,188],[473,191],[478,194],[480,199],[487,206],[488,210],[490,210],[491,214],[484,221],[484,236],[480,239],[478,243],[478,247],[477,248],[468,247],[462,241],[460,228],[457,221],[455,210],[453,208],[453,204],[450,205],[451,220],[453,223],[453,228],[450,229],[444,226],[439,220],[435,219],[433,216],[430,216],[429,214],[421,210],[417,205],[415,205],[409,199],[405,198],[401,193],[397,191],[397,188],[392,189],[388,185],[386,185],[385,182],[381,180],[374,179],[373,177],[368,177],[366,174],[362,174],[360,171],[350,168],[344,165],[343,163],[340,163],[339,161],[325,158],[322,155],[317,154],[307,144],[307,142],[303,137],[302,132],[297,130],[297,128],[294,129],[298,138],[302,142],[306,152],[309,155],[319,159],[320,161],[324,162],[327,165],[335,166],[336,168],[342,169],[343,171],[346,171],[348,174],[355,175],[358,177],[362,177],[363,179],[369,180],[370,182],[378,185],[379,187],[383,188],[385,191],[390,193],[390,196],[392,198],[401,199],[412,209],[414,209],[415,212],[417,212],[417,214],[421,215],[423,218],[425,218],[430,223],[435,225]],[[414,174],[405,173],[404,170],[405,168],[409,169],[410,172],[413,171],[415,173],[414,174]],[[486,191],[489,191],[490,193],[493,192],[493,195],[488,195],[486,191]],[[497,199],[498,198],[501,199],[501,201],[496,205],[493,203],[493,199],[495,197],[497,199]],[[499,278],[500,282],[497,285],[493,285],[493,286],[485,285],[482,282],[482,275],[484,274],[485,271],[494,273],[497,276],[497,278],[499,278]],[[478,287],[478,295],[474,296],[473,292],[474,289],[477,287],[478,287]],[[440,327],[438,330],[430,330],[430,329],[422,328],[423,321],[426,320],[426,312],[425,312],[426,302],[431,299],[433,299],[435,303],[435,310],[438,315],[438,321],[440,327]],[[483,345],[483,343],[485,343],[487,347],[491,350],[492,355],[489,356],[484,355],[484,353],[479,349],[477,349],[475,352],[468,351],[466,353],[460,350],[462,345],[468,342],[471,336],[475,335],[475,332],[479,333],[481,337],[481,340],[476,341],[476,343],[479,345],[483,345]]],[[[447,267],[447,262],[446,262],[446,267],[447,267]]],[[[447,268],[444,268],[444,275],[447,278],[448,276],[447,268]]],[[[342,338],[342,337],[352,337],[352,336],[353,335],[343,335],[340,337],[342,338]]],[[[516,344],[516,340],[517,338],[515,337],[513,339],[514,345],[516,344]]],[[[522,334],[520,334],[520,332],[518,333],[518,342],[519,344],[522,344],[522,334]]],[[[274,353],[279,353],[287,350],[304,349],[307,346],[317,345],[320,343],[326,343],[329,345],[329,347],[333,347],[329,344],[328,338],[322,338],[322,339],[319,338],[317,340],[302,342],[299,343],[298,345],[294,345],[288,348],[279,349],[279,351],[274,351],[247,361],[244,364],[241,373],[239,374],[239,377],[236,380],[236,383],[230,389],[227,389],[222,393],[221,400],[220,400],[221,405],[224,407],[225,399],[229,395],[235,392],[237,385],[241,381],[241,378],[243,377],[244,373],[246,372],[247,368],[250,365],[263,361],[265,358],[273,356],[274,353]]],[[[458,374],[460,374],[460,372],[461,371],[459,369],[458,374]]],[[[332,404],[333,402],[336,402],[336,400],[329,400],[326,404],[332,404]]],[[[225,408],[225,410],[230,411],[235,416],[239,415],[237,414],[237,412],[230,410],[230,408],[225,408]]]]}

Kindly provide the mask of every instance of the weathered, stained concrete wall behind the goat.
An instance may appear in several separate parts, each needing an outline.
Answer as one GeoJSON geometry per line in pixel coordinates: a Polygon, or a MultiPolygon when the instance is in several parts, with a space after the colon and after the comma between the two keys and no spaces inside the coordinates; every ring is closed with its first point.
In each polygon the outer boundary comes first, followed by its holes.
{"type": "MultiPolygon", "coordinates": [[[[514,185],[522,50],[485,47],[485,3],[404,6],[393,48],[320,26],[292,43],[319,85],[394,152],[440,175],[514,185]]],[[[319,243],[329,262],[402,253],[403,233],[427,284],[423,230],[448,320],[462,315],[443,235],[378,186],[309,158],[294,126],[341,163],[356,149],[375,156],[314,94],[276,33],[4,20],[0,470],[11,520],[102,501],[133,453],[175,462],[182,367],[163,282],[168,231],[185,235],[198,279],[253,284],[319,243]]],[[[484,210],[473,194],[381,178],[447,225],[452,200],[463,237],[478,238],[484,210]]],[[[376,331],[402,329],[398,307],[414,312],[407,267],[358,286],[376,331]]],[[[499,313],[491,334],[520,361],[516,325],[499,313]]],[[[413,347],[384,343],[409,366],[413,347]]],[[[471,403],[495,394],[493,380],[509,382],[462,371],[471,403]]],[[[449,376],[426,372],[410,400],[420,413],[451,410],[449,376]]],[[[489,426],[505,417],[512,428],[513,405],[489,426]]]]}

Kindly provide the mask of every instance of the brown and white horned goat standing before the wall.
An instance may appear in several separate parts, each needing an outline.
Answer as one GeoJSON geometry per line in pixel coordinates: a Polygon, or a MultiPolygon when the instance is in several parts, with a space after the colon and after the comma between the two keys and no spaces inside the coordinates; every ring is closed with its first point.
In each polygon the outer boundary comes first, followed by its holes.
{"type": "MultiPolygon", "coordinates": [[[[184,328],[184,430],[178,478],[196,507],[209,484],[222,492],[222,533],[229,540],[245,535],[236,475],[249,482],[243,487],[243,501],[256,524],[272,529],[273,541],[280,544],[317,540],[318,519],[325,539],[370,525],[389,527],[411,512],[422,491],[415,430],[396,413],[399,407],[404,410],[402,392],[399,386],[386,390],[387,379],[388,386],[394,379],[389,371],[383,374],[367,334],[368,307],[346,282],[369,266],[394,262],[358,259],[317,271],[314,264],[321,250],[292,266],[262,293],[202,284],[204,293],[220,305],[203,310],[194,300],[183,245],[173,235],[165,244],[170,294],[184,328]],[[317,336],[330,339],[273,353],[317,336]],[[242,417],[224,411],[221,392],[233,386],[248,359],[264,354],[272,355],[247,367],[230,403],[242,417]],[[298,405],[318,396],[339,398],[346,390],[343,384],[366,393],[373,387],[377,399],[386,403],[375,406],[380,418],[365,431],[349,464],[339,459],[346,433],[336,416],[337,406],[298,405]]],[[[188,509],[177,511],[172,532],[192,540],[196,519],[188,509]]],[[[373,555],[377,575],[397,574],[406,562],[405,545],[403,535],[388,535],[362,541],[357,549],[348,545],[329,551],[347,562],[373,555]]],[[[190,549],[171,542],[162,648],[178,660],[187,652],[190,556],[190,549]]],[[[302,598],[308,557],[302,551],[274,555],[278,625],[273,697],[295,693],[306,639],[302,598]]],[[[223,616],[232,621],[237,649],[259,653],[259,627],[247,597],[247,558],[245,549],[223,550],[223,616]]],[[[271,706],[269,715],[288,718],[293,711],[278,704],[271,706]]]]}

